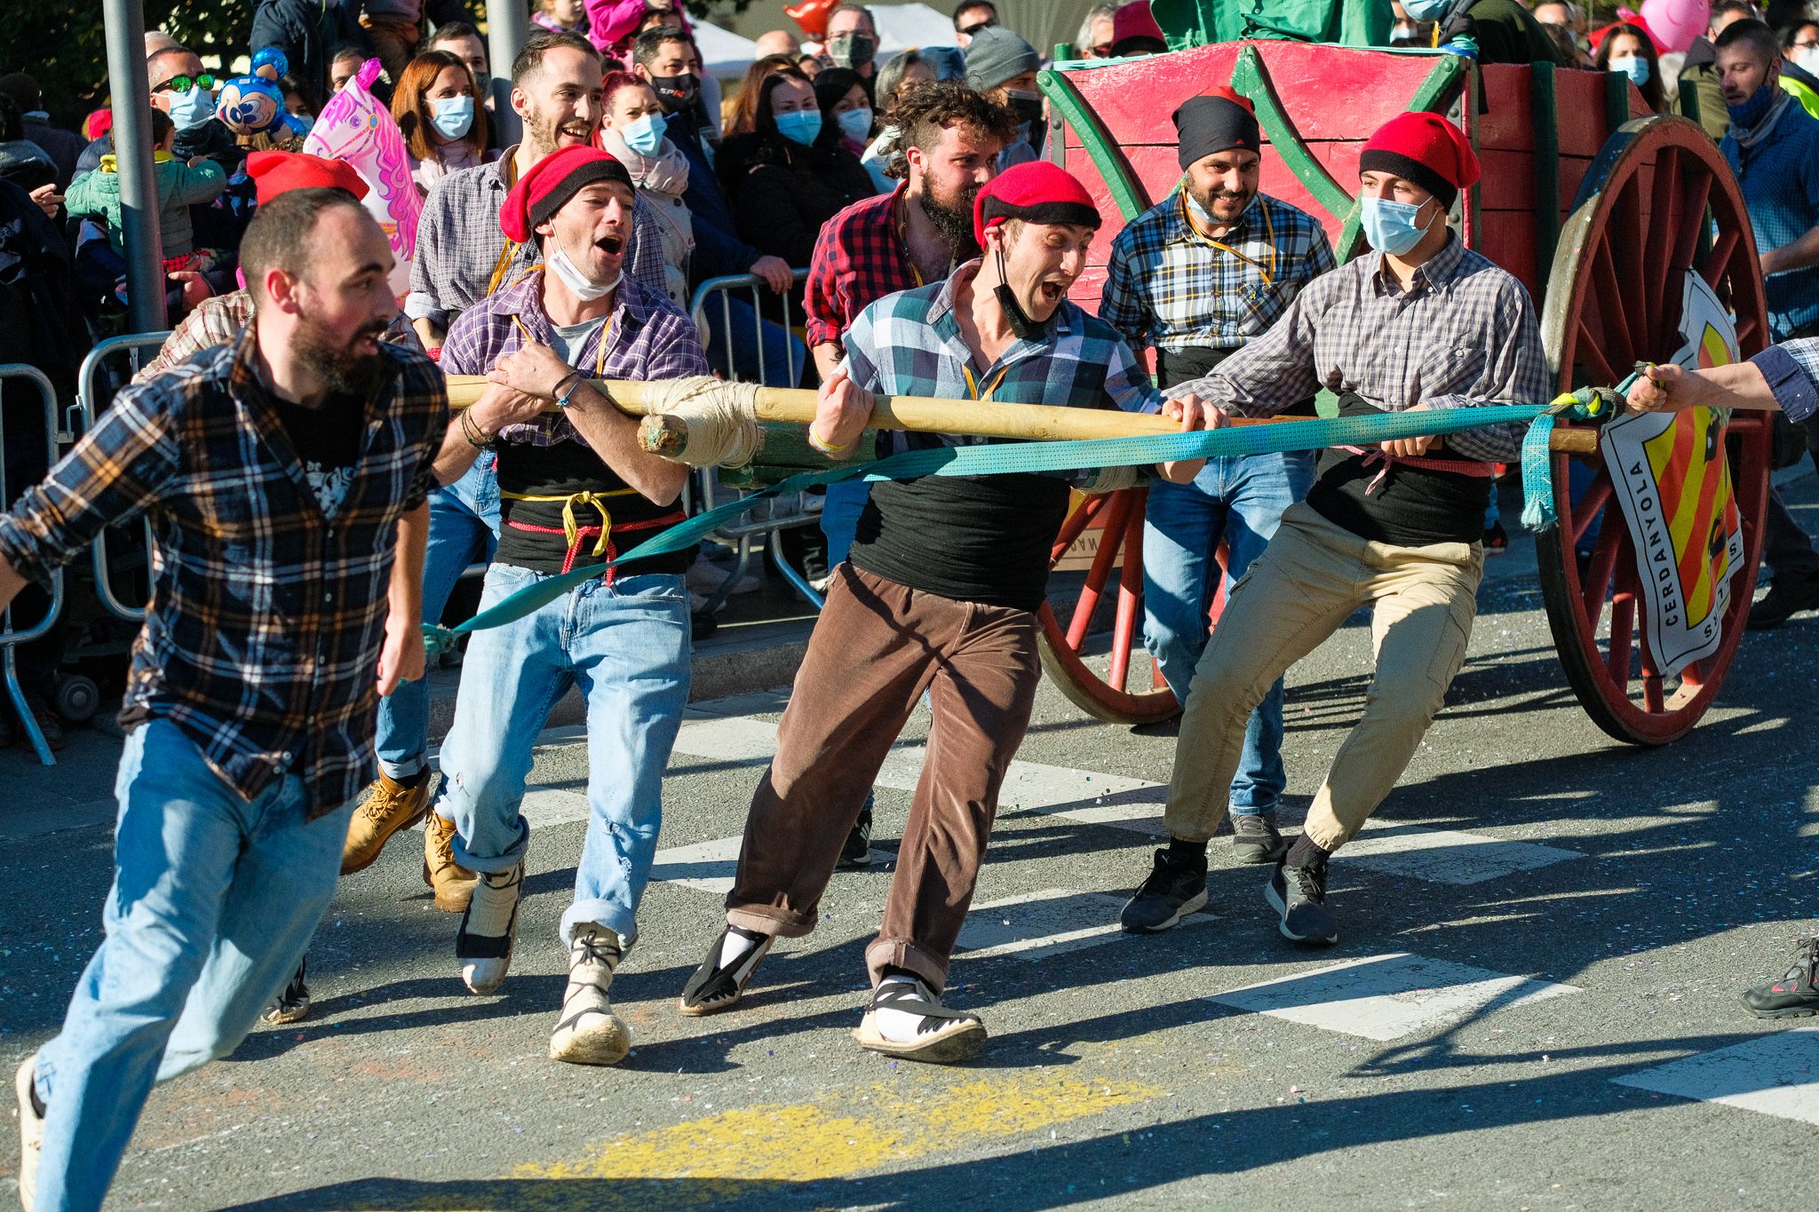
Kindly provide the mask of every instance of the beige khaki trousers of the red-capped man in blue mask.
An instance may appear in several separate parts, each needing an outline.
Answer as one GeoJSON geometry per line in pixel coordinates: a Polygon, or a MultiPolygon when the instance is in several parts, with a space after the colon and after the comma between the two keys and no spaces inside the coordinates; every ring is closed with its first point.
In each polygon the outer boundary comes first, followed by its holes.
{"type": "Polygon", "coordinates": [[[1270,683],[1370,605],[1377,674],[1306,823],[1322,850],[1344,845],[1395,787],[1441,709],[1464,661],[1482,574],[1477,543],[1373,543],[1306,503],[1291,505],[1233,585],[1193,671],[1168,789],[1168,832],[1182,841],[1213,836],[1244,749],[1244,723],[1270,683]]]}

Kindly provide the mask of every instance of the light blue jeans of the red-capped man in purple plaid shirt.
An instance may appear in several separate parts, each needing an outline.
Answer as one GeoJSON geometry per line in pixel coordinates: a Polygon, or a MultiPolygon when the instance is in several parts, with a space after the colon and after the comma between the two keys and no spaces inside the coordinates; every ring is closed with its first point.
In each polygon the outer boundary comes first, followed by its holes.
{"type": "MultiPolygon", "coordinates": [[[[480,609],[538,580],[546,574],[495,563],[480,609]]],[[[517,867],[531,839],[518,812],[531,747],[571,685],[588,700],[588,839],[562,939],[591,921],[629,947],[657,856],[664,767],[688,705],[688,591],[678,574],[593,580],[515,623],[473,632],[442,743],[437,810],[455,823],[457,863],[478,872],[517,867]]]]}

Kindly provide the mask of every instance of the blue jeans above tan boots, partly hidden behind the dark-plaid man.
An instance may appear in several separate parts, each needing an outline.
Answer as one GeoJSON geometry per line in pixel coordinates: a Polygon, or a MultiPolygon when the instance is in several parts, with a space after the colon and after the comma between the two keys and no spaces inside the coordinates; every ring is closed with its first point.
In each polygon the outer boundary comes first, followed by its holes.
{"type": "MultiPolygon", "coordinates": [[[[437,623],[469,565],[493,558],[498,540],[498,476],[482,451],[455,483],[429,494],[424,549],[424,621],[437,623]]],[[[429,678],[404,681],[378,700],[378,769],[407,780],[429,761],[429,678]]]]}

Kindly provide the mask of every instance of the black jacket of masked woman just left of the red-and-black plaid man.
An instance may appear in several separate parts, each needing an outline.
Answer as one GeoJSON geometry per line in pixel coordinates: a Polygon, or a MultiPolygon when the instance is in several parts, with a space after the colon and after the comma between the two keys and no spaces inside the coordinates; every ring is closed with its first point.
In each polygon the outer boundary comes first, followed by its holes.
{"type": "Polygon", "coordinates": [[[733,198],[739,234],[797,269],[809,263],[822,224],[879,191],[859,156],[835,140],[802,147],[762,136],[748,165],[733,198]]]}

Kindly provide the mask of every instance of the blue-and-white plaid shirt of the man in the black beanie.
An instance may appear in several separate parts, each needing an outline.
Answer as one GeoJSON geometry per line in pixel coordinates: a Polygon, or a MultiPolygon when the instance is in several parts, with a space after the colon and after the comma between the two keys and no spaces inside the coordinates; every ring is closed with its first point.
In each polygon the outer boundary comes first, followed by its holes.
{"type": "Polygon", "coordinates": [[[1237,349],[1335,263],[1326,229],[1286,202],[1257,194],[1213,242],[1177,189],[1111,242],[1099,318],[1133,345],[1237,349]]]}

